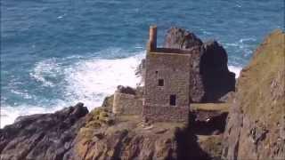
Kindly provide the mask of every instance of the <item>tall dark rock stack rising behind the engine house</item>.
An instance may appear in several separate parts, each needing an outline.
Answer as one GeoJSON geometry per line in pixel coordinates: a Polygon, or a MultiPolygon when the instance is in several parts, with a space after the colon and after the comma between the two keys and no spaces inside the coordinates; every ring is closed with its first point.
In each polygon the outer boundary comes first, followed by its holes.
{"type": "MultiPolygon", "coordinates": [[[[227,53],[216,41],[203,43],[193,33],[183,28],[167,31],[164,47],[183,49],[191,52],[198,47],[198,53],[191,53],[190,95],[192,102],[218,102],[228,92],[235,90],[235,74],[227,67],[227,53]]],[[[145,75],[145,60],[137,68],[136,74],[145,75]]],[[[143,80],[142,80],[143,82],[143,80]]]]}

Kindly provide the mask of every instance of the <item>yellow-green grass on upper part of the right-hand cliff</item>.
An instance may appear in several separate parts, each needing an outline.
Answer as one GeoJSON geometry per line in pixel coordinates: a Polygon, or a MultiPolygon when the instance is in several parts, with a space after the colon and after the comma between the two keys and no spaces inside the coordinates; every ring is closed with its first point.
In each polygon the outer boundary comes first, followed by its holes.
{"type": "Polygon", "coordinates": [[[256,49],[238,80],[242,111],[253,119],[277,122],[284,115],[285,34],[275,30],[256,49]],[[274,114],[274,115],[273,115],[274,114]]]}

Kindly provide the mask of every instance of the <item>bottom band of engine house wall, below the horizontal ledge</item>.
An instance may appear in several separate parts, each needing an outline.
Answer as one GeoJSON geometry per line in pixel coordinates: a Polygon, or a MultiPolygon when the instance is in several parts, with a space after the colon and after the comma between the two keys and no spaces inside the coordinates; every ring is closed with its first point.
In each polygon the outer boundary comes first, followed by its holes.
{"type": "Polygon", "coordinates": [[[187,124],[189,107],[143,106],[142,115],[150,121],[187,124]]]}

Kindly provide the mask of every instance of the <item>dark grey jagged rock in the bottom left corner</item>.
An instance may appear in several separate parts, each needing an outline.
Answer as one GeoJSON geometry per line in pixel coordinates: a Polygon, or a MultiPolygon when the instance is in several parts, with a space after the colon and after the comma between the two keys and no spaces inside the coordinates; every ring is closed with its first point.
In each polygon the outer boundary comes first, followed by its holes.
{"type": "Polygon", "coordinates": [[[53,114],[20,116],[0,130],[0,159],[62,159],[87,113],[78,103],[53,114]]]}

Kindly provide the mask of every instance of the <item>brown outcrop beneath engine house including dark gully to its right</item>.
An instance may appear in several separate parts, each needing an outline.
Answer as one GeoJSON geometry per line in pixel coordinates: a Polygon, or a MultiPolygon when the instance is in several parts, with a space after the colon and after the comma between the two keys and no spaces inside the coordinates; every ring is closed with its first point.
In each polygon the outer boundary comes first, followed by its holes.
{"type": "MultiPolygon", "coordinates": [[[[203,115],[200,110],[193,114],[203,115]]],[[[105,108],[95,108],[86,116],[69,159],[219,159],[224,114],[208,115],[210,120],[191,119],[187,127],[177,123],[148,124],[140,116],[113,116],[105,108]],[[197,130],[213,123],[216,128],[212,131],[218,131],[215,134],[197,130]]]]}

